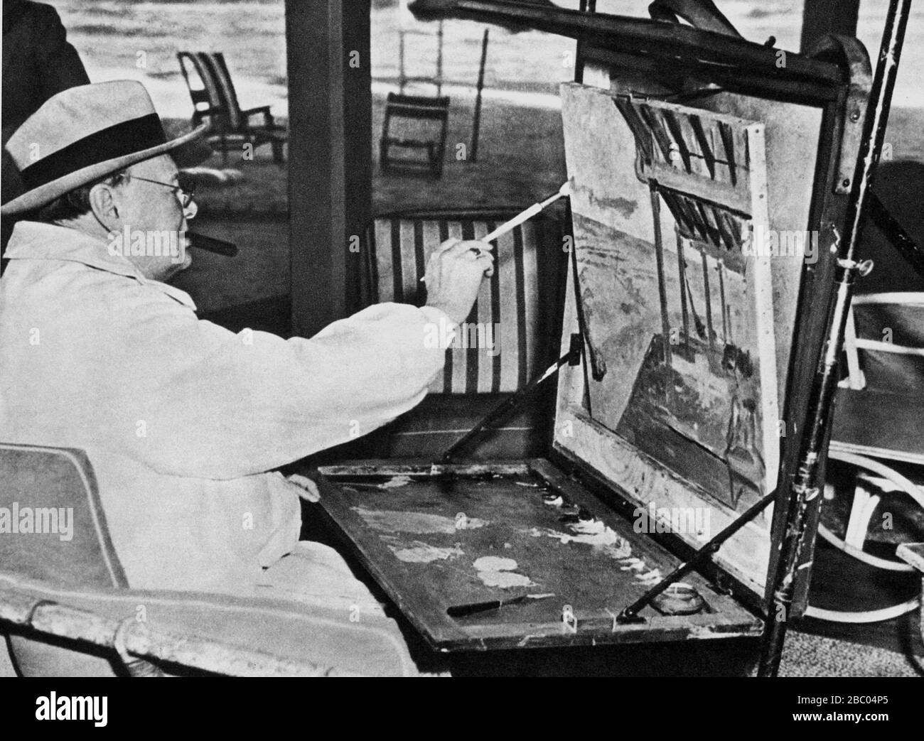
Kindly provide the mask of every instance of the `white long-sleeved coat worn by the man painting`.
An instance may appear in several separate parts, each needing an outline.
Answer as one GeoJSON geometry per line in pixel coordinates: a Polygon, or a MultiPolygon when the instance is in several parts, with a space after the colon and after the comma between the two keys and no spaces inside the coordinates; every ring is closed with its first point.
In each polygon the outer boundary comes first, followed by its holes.
{"type": "Polygon", "coordinates": [[[298,541],[273,468],[414,407],[444,312],[379,304],[311,339],[196,318],[106,243],[20,222],[0,280],[0,439],[86,450],[129,584],[248,594],[298,541]]]}

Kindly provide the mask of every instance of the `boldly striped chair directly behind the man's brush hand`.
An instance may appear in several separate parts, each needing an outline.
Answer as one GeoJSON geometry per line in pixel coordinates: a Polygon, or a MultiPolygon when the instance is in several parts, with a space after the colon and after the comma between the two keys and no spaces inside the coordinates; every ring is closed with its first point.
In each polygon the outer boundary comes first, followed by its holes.
{"type": "MultiPolygon", "coordinates": [[[[422,305],[426,291],[420,277],[433,249],[450,237],[483,237],[515,213],[474,210],[377,217],[366,234],[364,305],[387,301],[422,305]]],[[[492,278],[481,286],[456,341],[447,348],[444,371],[434,379],[425,404],[399,420],[389,455],[438,452],[503,395],[526,385],[557,357],[559,278],[567,257],[561,226],[541,214],[496,244],[492,278]]],[[[502,429],[519,436],[520,442],[540,434],[541,415],[528,417],[521,415],[502,429]]],[[[516,443],[505,452],[526,455],[516,443]]]]}

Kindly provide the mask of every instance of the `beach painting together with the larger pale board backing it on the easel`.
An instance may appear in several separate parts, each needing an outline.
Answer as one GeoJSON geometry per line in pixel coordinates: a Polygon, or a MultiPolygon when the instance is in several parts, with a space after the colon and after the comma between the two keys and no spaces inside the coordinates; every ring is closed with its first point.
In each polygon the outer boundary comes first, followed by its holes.
{"type": "MultiPolygon", "coordinates": [[[[771,148],[762,117],[729,114],[732,96],[692,107],[614,88],[562,86],[577,264],[565,322],[582,314],[587,362],[563,371],[555,443],[638,504],[709,508],[714,534],[776,486],[804,254],[774,254],[770,237],[803,217],[788,203],[801,185],[785,199],[769,187],[768,150],[786,141],[773,128],[771,148]]],[[[755,590],[770,522],[719,554],[755,590]]]]}

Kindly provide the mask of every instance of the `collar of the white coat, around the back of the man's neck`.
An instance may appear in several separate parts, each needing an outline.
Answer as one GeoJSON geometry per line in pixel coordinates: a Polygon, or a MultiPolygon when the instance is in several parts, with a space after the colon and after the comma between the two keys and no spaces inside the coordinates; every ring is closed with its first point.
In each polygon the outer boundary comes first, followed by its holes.
{"type": "Polygon", "coordinates": [[[80,262],[106,273],[134,278],[141,285],[150,285],[189,309],[196,310],[196,304],[185,291],[145,278],[128,258],[110,254],[103,239],[67,226],[20,221],[13,227],[4,257],[8,260],[80,262]]]}

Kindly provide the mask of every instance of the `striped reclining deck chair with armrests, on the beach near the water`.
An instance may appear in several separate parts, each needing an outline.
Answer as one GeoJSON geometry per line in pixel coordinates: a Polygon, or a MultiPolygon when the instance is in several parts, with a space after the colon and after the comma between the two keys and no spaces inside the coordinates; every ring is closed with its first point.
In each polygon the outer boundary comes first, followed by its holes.
{"type": "Polygon", "coordinates": [[[270,144],[274,161],[278,164],[286,161],[283,152],[288,140],[286,128],[274,122],[269,105],[241,110],[225,55],[221,52],[178,52],[176,59],[192,99],[192,124],[199,126],[203,120],[208,121],[211,128],[206,139],[213,147],[221,149],[225,164],[227,152],[238,150],[243,144],[251,144],[255,149],[270,144]],[[201,87],[194,87],[196,77],[201,87]],[[263,122],[251,124],[254,115],[262,115],[263,122]]]}

